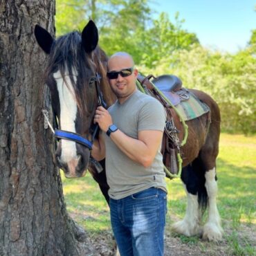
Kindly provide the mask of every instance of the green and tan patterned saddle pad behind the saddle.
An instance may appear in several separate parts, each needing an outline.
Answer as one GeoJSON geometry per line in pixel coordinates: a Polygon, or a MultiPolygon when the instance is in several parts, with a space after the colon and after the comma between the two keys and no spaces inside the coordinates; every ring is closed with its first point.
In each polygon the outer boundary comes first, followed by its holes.
{"type": "Polygon", "coordinates": [[[190,93],[190,98],[186,101],[181,101],[180,104],[176,105],[176,109],[178,109],[179,113],[181,113],[182,118],[185,121],[192,120],[194,118],[198,118],[202,116],[204,113],[208,113],[210,108],[205,103],[201,102],[199,98],[190,93]]]}

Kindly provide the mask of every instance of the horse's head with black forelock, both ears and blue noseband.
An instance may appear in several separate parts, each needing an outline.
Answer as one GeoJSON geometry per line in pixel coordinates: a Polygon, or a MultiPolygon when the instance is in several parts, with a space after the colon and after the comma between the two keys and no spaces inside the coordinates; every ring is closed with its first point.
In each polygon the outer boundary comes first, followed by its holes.
{"type": "Polygon", "coordinates": [[[59,130],[58,136],[55,133],[60,139],[55,152],[57,165],[68,178],[84,176],[91,153],[98,89],[102,91],[107,81],[107,57],[97,46],[98,29],[89,21],[82,34],[75,31],[53,39],[37,25],[35,37],[49,55],[46,84],[59,130]]]}

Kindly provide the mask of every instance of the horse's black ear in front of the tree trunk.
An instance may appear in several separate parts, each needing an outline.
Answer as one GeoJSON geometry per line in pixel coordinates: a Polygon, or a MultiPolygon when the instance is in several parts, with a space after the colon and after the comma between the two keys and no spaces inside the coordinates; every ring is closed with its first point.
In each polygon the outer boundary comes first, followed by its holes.
{"type": "Polygon", "coordinates": [[[35,25],[35,38],[37,39],[37,43],[44,50],[45,53],[51,53],[51,46],[53,45],[53,37],[48,33],[47,30],[42,28],[39,25],[35,25]]]}

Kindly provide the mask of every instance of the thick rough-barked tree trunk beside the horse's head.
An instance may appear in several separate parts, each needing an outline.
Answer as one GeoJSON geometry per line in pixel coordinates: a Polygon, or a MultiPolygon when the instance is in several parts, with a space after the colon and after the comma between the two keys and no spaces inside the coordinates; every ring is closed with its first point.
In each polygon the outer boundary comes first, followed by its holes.
{"type": "Polygon", "coordinates": [[[35,24],[53,35],[55,1],[0,0],[0,255],[79,255],[68,218],[35,24]]]}

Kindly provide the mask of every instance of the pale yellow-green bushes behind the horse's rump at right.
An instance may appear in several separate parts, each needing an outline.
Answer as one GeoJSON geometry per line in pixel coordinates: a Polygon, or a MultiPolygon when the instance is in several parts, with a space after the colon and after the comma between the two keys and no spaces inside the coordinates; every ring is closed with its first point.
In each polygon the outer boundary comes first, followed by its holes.
{"type": "Polygon", "coordinates": [[[255,133],[256,60],[252,47],[230,55],[194,45],[163,58],[153,72],[145,66],[140,70],[181,77],[183,86],[205,91],[217,101],[223,130],[255,133]]]}

